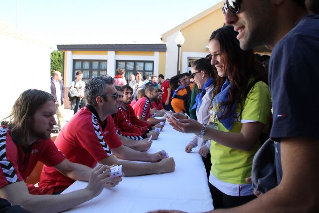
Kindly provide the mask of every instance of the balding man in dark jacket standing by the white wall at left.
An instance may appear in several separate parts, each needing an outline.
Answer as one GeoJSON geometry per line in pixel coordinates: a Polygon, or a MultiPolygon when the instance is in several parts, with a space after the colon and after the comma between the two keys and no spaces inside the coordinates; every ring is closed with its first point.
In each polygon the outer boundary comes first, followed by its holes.
{"type": "Polygon", "coordinates": [[[64,122],[64,85],[62,82],[61,72],[59,71],[54,71],[53,76],[51,77],[51,94],[56,100],[55,109],[58,118],[58,127],[60,131],[62,129],[62,124],[64,122]]]}

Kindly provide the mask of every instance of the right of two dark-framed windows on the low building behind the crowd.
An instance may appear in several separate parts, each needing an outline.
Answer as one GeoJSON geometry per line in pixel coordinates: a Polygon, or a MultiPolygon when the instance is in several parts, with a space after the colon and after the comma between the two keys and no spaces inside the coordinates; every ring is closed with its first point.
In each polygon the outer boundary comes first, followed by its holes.
{"type": "Polygon", "coordinates": [[[151,79],[151,76],[153,75],[153,69],[154,69],[154,62],[153,61],[116,61],[116,69],[118,68],[124,68],[126,70],[125,72],[125,79],[127,81],[130,81],[130,75],[134,74],[136,72],[141,72],[142,77],[143,75],[148,75],[149,80],[151,79]]]}

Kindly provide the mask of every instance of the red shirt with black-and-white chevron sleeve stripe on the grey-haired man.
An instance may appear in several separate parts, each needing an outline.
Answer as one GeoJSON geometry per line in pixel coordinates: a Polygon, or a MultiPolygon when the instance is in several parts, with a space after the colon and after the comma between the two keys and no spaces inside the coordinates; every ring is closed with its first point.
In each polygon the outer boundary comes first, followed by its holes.
{"type": "MultiPolygon", "coordinates": [[[[122,145],[111,116],[101,122],[93,107],[83,107],[62,128],[55,140],[57,148],[71,162],[94,167],[112,155],[110,150],[122,145]]],[[[43,167],[39,186],[51,187],[62,191],[75,180],[62,175],[53,167],[43,167]]]]}

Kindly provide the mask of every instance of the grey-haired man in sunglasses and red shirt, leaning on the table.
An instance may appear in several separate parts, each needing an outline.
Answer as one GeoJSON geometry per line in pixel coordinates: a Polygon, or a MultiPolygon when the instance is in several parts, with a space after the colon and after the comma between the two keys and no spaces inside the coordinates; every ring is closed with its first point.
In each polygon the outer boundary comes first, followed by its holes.
{"type": "MultiPolygon", "coordinates": [[[[74,163],[94,167],[98,162],[104,165],[122,165],[127,176],[173,172],[173,158],[159,153],[145,153],[123,146],[119,140],[111,114],[117,112],[118,93],[112,77],[96,77],[89,80],[84,89],[87,105],[74,115],[62,128],[55,140],[57,148],[74,163]],[[151,161],[137,163],[126,160],[151,161]]],[[[39,186],[63,191],[75,180],[59,173],[53,167],[44,167],[39,186]]]]}

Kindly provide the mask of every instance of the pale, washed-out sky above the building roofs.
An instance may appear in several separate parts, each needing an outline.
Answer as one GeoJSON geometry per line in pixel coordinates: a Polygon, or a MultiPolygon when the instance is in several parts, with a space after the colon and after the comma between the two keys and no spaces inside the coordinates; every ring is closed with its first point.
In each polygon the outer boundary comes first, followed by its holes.
{"type": "Polygon", "coordinates": [[[160,43],[221,0],[0,0],[0,21],[52,44],[160,43]]]}

